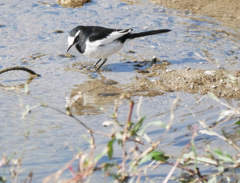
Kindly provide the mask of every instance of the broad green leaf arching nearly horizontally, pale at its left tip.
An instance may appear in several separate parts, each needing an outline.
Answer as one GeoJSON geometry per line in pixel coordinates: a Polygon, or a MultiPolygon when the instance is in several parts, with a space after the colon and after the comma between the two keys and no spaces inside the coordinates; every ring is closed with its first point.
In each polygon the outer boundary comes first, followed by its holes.
{"type": "Polygon", "coordinates": [[[150,160],[165,162],[168,158],[162,151],[152,151],[140,160],[139,165],[150,160]]]}

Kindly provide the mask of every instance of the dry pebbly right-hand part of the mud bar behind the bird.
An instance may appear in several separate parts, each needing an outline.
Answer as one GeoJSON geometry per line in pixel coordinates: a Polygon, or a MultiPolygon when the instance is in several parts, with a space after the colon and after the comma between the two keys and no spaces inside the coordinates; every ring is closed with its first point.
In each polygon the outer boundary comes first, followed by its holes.
{"type": "Polygon", "coordinates": [[[240,71],[190,68],[158,70],[157,67],[153,67],[145,77],[137,79],[134,86],[201,95],[211,92],[220,98],[240,98],[240,71]]]}

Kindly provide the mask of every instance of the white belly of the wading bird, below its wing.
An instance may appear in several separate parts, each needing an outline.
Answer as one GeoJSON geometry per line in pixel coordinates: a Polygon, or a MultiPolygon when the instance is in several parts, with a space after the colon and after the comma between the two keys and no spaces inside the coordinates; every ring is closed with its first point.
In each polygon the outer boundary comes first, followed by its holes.
{"type": "Polygon", "coordinates": [[[86,49],[83,55],[90,58],[107,58],[121,50],[123,44],[119,41],[114,41],[105,45],[101,45],[99,41],[86,42],[86,49]]]}

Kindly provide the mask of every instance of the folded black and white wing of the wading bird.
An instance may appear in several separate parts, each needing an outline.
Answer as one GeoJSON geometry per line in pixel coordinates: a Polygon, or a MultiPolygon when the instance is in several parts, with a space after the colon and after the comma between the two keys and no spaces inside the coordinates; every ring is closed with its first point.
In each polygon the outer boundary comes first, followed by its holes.
{"type": "Polygon", "coordinates": [[[92,35],[89,37],[89,41],[98,42],[99,45],[109,44],[132,31],[132,29],[98,29],[95,29],[92,32],[92,35]]]}

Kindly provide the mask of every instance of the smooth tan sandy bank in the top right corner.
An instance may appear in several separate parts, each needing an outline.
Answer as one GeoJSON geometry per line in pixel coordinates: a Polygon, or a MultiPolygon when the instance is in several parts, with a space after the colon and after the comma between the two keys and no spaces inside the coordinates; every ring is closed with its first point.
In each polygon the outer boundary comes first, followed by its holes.
{"type": "Polygon", "coordinates": [[[197,15],[213,17],[225,25],[240,26],[239,0],[150,0],[167,8],[190,11],[197,15]]]}

